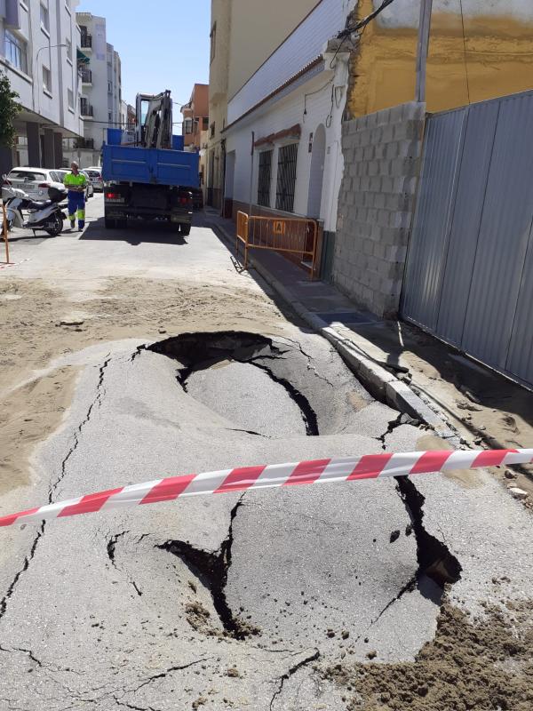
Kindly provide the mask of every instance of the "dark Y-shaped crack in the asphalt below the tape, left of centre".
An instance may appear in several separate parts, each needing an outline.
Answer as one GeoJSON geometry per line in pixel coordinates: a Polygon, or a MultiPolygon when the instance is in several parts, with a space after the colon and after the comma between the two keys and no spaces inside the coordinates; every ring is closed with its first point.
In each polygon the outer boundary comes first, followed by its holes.
{"type": "Polygon", "coordinates": [[[179,557],[195,578],[199,579],[203,586],[209,590],[213,606],[219,615],[225,633],[237,640],[244,640],[251,635],[259,634],[257,627],[240,619],[231,610],[226,597],[227,573],[232,562],[234,542],[233,524],[239,507],[243,505],[243,497],[244,494],[231,510],[227,537],[220,544],[219,550],[211,553],[183,540],[167,540],[155,546],[179,557]]]}

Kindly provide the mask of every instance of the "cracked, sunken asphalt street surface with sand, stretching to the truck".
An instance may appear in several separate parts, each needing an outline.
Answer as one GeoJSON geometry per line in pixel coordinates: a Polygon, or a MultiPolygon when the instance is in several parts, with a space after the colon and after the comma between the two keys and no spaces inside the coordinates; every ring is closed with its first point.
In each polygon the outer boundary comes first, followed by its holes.
{"type": "MultiPolygon", "coordinates": [[[[99,210],[1,276],[0,513],[426,448],[209,228],[109,239],[99,210]]],[[[21,524],[0,533],[0,711],[525,711],[532,532],[483,472],[21,524]]]]}

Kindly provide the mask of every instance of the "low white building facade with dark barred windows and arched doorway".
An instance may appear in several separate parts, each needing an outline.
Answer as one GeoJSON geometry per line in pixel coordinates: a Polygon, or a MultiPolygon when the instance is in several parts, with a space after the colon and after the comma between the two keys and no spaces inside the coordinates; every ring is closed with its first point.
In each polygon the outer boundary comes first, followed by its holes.
{"type": "Polygon", "coordinates": [[[254,213],[315,218],[323,250],[337,222],[349,59],[346,46],[335,52],[328,43],[353,4],[317,4],[228,101],[223,132],[225,212],[231,201],[234,216],[251,205],[254,213]]]}

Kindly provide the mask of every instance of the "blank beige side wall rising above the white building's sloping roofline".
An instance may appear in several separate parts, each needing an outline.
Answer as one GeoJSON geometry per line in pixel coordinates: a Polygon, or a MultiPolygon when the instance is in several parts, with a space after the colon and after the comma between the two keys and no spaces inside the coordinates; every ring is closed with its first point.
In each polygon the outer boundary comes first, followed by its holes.
{"type": "Polygon", "coordinates": [[[316,4],[318,0],[232,0],[228,99],[316,4]]]}

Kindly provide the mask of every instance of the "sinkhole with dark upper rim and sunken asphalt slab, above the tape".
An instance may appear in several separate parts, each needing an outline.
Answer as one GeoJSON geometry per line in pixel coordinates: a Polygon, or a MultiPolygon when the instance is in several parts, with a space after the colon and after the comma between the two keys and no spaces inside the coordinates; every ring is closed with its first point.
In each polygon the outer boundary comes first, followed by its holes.
{"type": "Polygon", "coordinates": [[[290,379],[290,368],[301,368],[306,359],[294,347],[254,333],[199,332],[148,349],[175,359],[181,387],[236,431],[267,437],[319,434],[313,405],[290,379]]]}

